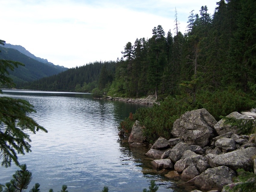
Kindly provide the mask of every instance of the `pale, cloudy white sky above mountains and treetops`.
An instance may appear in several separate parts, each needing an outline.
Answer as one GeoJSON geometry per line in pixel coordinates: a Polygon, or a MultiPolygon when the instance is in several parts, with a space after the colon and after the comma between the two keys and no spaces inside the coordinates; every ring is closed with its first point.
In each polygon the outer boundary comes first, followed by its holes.
{"type": "Polygon", "coordinates": [[[149,39],[161,25],[180,32],[190,12],[217,0],[0,0],[0,39],[21,45],[36,57],[68,68],[120,59],[127,42],[149,39]]]}

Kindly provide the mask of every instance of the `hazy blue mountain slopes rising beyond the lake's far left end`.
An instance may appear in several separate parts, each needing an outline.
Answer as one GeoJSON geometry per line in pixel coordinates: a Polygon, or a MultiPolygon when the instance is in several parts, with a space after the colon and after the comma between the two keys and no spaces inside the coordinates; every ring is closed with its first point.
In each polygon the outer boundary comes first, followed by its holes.
{"type": "Polygon", "coordinates": [[[1,46],[0,50],[2,51],[0,53],[0,59],[19,61],[25,64],[25,66],[20,66],[10,72],[11,78],[14,79],[14,83],[17,85],[52,76],[67,70],[65,67],[57,66],[49,62],[42,63],[36,59],[28,57],[17,49],[1,46]]]}

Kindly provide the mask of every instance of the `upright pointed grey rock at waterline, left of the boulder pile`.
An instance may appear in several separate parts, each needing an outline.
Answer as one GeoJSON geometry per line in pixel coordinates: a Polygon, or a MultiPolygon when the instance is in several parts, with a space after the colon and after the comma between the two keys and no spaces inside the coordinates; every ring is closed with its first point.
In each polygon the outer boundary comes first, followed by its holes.
{"type": "Polygon", "coordinates": [[[139,125],[139,121],[136,120],[133,124],[133,128],[131,134],[129,136],[129,143],[143,143],[145,141],[145,137],[143,136],[142,126],[139,125]]]}

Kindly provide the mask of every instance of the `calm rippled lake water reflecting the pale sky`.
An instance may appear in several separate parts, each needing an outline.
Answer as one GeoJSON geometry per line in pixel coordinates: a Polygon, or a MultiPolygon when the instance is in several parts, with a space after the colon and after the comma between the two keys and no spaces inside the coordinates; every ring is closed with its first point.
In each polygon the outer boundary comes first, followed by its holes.
{"type": "MultiPolygon", "coordinates": [[[[60,191],[66,184],[69,192],[100,192],[104,186],[109,192],[142,192],[154,179],[159,192],[179,191],[155,174],[144,155],[148,149],[130,149],[117,135],[119,122],[144,105],[65,92],[4,91],[2,96],[29,101],[37,111],[30,116],[48,130],[31,135],[32,152],[19,156],[33,173],[29,189],[39,183],[41,191],[60,191]]],[[[0,183],[10,181],[16,170],[15,164],[0,167],[0,183]]]]}

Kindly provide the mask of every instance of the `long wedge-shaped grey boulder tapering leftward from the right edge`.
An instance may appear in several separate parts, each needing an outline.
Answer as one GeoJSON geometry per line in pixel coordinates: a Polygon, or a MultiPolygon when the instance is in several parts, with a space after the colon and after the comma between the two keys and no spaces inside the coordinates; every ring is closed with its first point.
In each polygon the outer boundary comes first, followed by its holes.
{"type": "Polygon", "coordinates": [[[220,154],[214,159],[211,159],[211,164],[214,164],[214,167],[217,166],[227,166],[233,170],[245,169],[249,171],[253,169],[253,160],[252,157],[256,155],[255,147],[248,147],[243,150],[235,150],[229,153],[220,154]]]}

